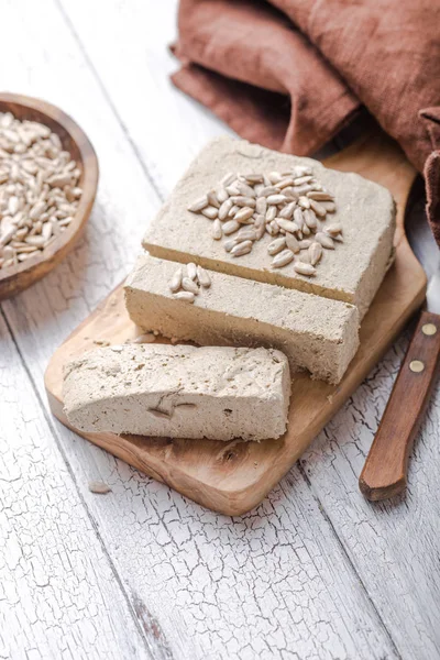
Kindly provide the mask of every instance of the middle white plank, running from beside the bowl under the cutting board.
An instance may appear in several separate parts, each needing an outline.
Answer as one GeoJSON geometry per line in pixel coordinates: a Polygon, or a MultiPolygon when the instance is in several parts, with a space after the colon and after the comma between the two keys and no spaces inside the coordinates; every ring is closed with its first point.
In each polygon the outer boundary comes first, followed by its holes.
{"type": "MultiPolygon", "coordinates": [[[[72,112],[101,164],[86,241],[4,305],[42,393],[53,349],[127,272],[158,199],[78,44],[53,4],[46,2],[44,12],[41,7],[29,1],[3,9],[8,31],[0,54],[15,53],[6,84],[72,112]]],[[[106,30],[101,15],[94,38],[106,30]]],[[[396,657],[297,469],[257,510],[232,519],[201,509],[58,426],[56,431],[143,629],[162,640],[154,657],[396,657]],[[111,496],[88,492],[88,480],[98,476],[111,485],[111,496]]]]}

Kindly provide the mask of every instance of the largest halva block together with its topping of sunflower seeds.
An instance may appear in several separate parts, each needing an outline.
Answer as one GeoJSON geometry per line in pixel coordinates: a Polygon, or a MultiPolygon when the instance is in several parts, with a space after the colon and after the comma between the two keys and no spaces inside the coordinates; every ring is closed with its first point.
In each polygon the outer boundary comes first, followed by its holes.
{"type": "Polygon", "coordinates": [[[394,230],[395,205],[378,184],[218,138],[179,180],[143,244],[157,257],[351,302],[362,317],[389,265],[394,230]],[[244,243],[242,228],[257,235],[244,243]],[[279,235],[294,237],[292,258],[267,253],[279,235]],[[323,250],[298,251],[295,239],[323,250]]]}

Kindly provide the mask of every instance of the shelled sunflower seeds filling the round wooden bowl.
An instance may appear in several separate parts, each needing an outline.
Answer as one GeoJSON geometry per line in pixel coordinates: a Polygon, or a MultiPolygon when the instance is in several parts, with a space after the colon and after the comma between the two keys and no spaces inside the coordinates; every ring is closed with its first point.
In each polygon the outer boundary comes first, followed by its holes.
{"type": "Polygon", "coordinates": [[[80,175],[51,129],[0,113],[0,268],[43,251],[67,229],[80,175]]]}

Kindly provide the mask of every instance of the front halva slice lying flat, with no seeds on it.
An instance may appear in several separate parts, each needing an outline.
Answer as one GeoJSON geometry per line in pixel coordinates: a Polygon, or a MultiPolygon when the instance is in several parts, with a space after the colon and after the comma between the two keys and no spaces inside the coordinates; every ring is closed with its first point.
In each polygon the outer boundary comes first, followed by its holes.
{"type": "Polygon", "coordinates": [[[263,440],[286,430],[289,394],[279,351],[124,344],[70,362],[63,397],[80,431],[263,440]]]}

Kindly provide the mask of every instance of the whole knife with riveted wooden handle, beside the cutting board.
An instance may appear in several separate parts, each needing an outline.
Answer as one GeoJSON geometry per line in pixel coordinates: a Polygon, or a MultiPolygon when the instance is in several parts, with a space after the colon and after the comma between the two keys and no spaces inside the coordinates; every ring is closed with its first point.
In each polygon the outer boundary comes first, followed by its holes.
{"type": "Polygon", "coordinates": [[[359,479],[361,492],[377,502],[406,488],[408,457],[440,356],[440,250],[424,213],[408,213],[408,242],[428,278],[427,306],[420,314],[377,433],[359,479]]]}

